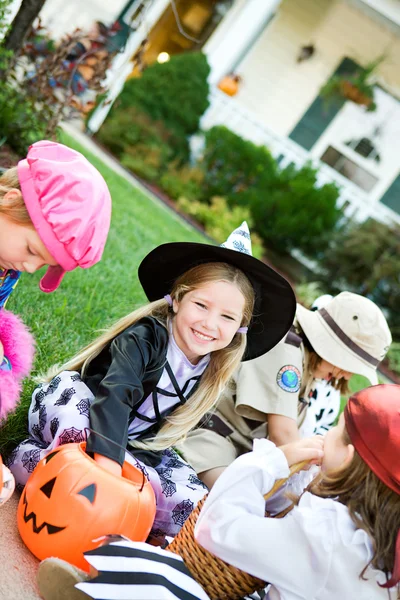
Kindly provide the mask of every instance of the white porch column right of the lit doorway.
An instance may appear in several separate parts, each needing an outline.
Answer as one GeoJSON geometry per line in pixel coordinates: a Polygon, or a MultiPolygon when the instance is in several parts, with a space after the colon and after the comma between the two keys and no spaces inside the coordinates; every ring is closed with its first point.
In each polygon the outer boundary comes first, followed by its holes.
{"type": "Polygon", "coordinates": [[[237,0],[205,44],[210,83],[229,73],[253,45],[281,0],[237,0]]]}

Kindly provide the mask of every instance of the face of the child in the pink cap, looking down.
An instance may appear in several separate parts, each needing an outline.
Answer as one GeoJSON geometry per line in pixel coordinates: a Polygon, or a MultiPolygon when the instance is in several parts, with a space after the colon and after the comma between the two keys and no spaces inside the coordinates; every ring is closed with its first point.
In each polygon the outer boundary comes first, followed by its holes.
{"type": "Polygon", "coordinates": [[[31,225],[16,223],[0,214],[0,267],[34,273],[57,261],[31,225]]]}

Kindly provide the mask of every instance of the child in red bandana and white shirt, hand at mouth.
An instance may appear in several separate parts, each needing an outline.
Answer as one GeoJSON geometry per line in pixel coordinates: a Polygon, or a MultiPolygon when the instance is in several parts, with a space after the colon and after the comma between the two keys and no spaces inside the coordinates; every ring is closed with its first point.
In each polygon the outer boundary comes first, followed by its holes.
{"type": "Polygon", "coordinates": [[[280,448],[255,440],[253,452],[217,480],[195,537],[219,558],[269,581],[265,600],[395,600],[400,386],[376,385],[353,395],[323,439],[321,471],[283,519],[264,517],[264,494],[288,476],[290,465],[310,458],[310,440],[280,448]]]}

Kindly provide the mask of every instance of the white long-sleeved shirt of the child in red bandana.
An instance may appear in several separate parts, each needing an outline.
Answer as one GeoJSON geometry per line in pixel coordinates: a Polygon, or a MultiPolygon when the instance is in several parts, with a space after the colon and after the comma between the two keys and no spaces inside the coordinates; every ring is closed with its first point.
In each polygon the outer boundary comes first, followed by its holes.
{"type": "Polygon", "coordinates": [[[219,558],[282,592],[312,598],[329,572],[330,521],[299,507],[283,519],[264,517],[264,494],[288,475],[283,452],[268,440],[255,440],[253,452],[236,459],[218,478],[195,537],[219,558]]]}

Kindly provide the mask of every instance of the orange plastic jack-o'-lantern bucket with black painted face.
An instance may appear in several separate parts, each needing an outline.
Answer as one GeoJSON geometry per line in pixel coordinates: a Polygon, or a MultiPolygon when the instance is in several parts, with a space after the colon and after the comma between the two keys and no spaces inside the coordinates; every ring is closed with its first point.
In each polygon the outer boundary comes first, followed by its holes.
{"type": "Polygon", "coordinates": [[[93,540],[121,534],[144,541],[155,516],[155,497],[143,473],[125,462],[122,477],[100,467],[85,444],[50,452],[30,476],[18,506],[18,529],[40,560],[62,558],[88,570],[83,552],[93,540]]]}

